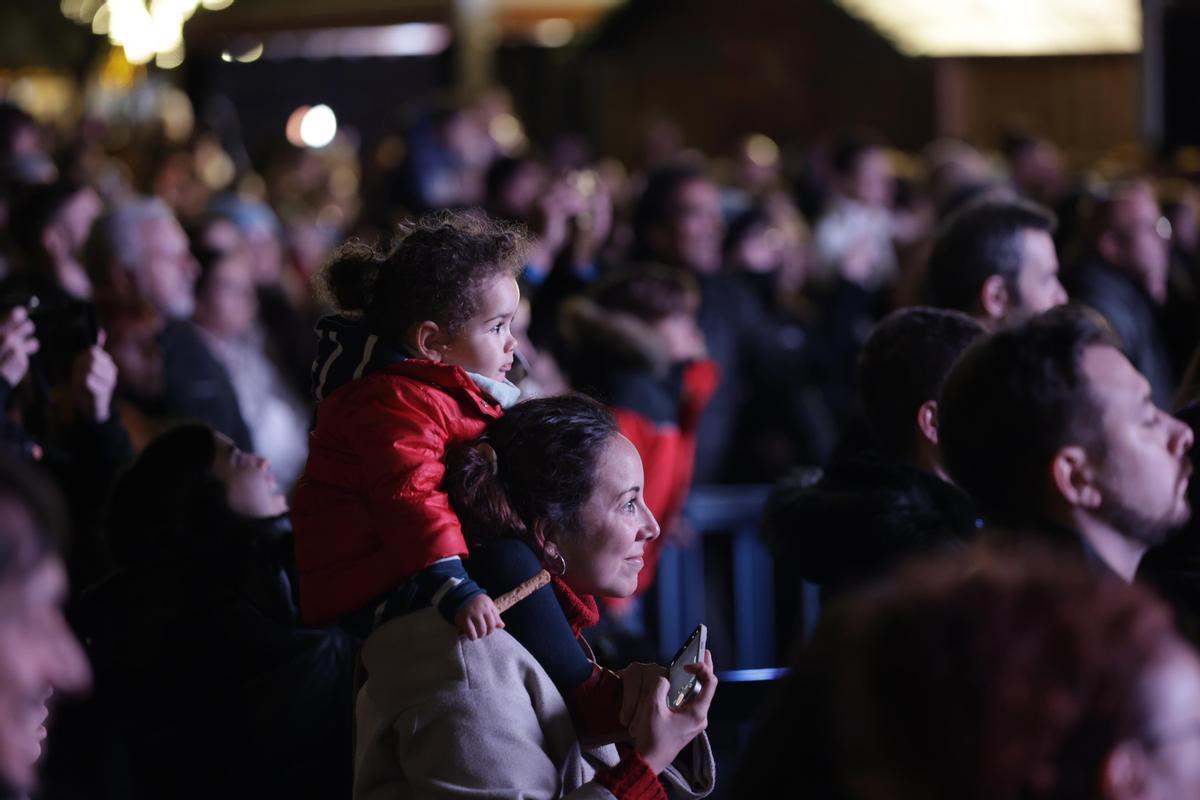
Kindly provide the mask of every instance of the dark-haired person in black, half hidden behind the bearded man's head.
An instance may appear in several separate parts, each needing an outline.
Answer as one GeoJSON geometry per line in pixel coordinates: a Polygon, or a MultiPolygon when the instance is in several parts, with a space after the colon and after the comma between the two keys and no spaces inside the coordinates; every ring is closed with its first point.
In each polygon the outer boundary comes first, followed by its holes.
{"type": "Polygon", "coordinates": [[[781,486],[768,517],[778,557],[818,584],[823,601],[974,535],[973,504],[946,479],[937,398],[950,365],[983,332],[959,312],[905,308],[868,337],[858,399],[875,446],[844,450],[811,488],[781,486]]]}

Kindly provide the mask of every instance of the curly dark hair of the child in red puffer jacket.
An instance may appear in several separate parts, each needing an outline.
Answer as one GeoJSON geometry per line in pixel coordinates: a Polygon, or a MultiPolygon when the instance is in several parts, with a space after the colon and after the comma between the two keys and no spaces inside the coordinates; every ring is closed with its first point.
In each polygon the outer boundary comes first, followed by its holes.
{"type": "Polygon", "coordinates": [[[494,278],[515,276],[528,242],[480,212],[440,211],[401,227],[386,249],[349,241],[334,253],[320,284],[337,308],[362,314],[392,345],[425,320],[455,335],[475,314],[494,278]]]}

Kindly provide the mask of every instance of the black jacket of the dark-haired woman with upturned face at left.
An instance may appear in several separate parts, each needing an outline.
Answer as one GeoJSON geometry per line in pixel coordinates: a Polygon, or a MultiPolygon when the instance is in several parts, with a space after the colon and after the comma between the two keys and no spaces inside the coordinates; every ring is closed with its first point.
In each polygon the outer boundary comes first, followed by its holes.
{"type": "Polygon", "coordinates": [[[48,796],[349,795],[352,640],[299,624],[289,535],[212,540],[79,601],[95,688],[54,728],[48,796]]]}

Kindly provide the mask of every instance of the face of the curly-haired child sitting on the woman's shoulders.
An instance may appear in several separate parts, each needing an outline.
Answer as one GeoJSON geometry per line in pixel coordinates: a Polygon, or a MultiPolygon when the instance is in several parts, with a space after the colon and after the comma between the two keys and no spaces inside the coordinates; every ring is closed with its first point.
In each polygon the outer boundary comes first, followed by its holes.
{"type": "Polygon", "coordinates": [[[511,325],[520,302],[521,289],[512,277],[492,281],[484,289],[479,312],[442,347],[442,360],[493,380],[508,378],[517,347],[511,325]]]}

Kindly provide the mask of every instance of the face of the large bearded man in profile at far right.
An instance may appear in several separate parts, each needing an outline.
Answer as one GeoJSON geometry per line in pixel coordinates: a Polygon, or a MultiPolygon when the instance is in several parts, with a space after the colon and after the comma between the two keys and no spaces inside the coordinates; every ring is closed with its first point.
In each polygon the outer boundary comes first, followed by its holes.
{"type": "Polygon", "coordinates": [[[1147,546],[1188,521],[1192,429],[1154,405],[1150,383],[1120,350],[1093,345],[1081,372],[1100,410],[1104,453],[1096,469],[1096,513],[1147,546]]]}

